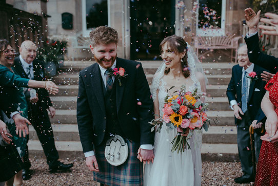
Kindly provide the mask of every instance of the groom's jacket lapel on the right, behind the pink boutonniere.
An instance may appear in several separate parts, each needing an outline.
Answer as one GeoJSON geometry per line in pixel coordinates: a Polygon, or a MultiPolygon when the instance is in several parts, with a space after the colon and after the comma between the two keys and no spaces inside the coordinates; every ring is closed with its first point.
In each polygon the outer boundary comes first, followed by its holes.
{"type": "MultiPolygon", "coordinates": [[[[123,67],[122,59],[117,58],[116,67],[117,68],[123,67]]],[[[116,86],[117,113],[118,113],[118,110],[120,109],[121,102],[122,102],[122,99],[123,99],[124,90],[125,90],[125,84],[126,84],[126,78],[122,78],[121,79],[122,86],[120,86],[120,82],[118,81],[118,79],[115,78],[114,86],[116,86]]]]}

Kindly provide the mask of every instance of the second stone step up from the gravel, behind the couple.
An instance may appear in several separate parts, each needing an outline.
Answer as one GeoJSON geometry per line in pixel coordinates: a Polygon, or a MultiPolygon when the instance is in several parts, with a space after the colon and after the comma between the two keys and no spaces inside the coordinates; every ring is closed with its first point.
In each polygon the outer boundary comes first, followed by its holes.
{"type": "MultiPolygon", "coordinates": [[[[80,141],[77,124],[52,124],[55,141],[80,141]]],[[[38,140],[35,129],[29,126],[29,139],[38,140]]],[[[203,133],[203,143],[236,143],[235,126],[210,126],[203,133]]]]}

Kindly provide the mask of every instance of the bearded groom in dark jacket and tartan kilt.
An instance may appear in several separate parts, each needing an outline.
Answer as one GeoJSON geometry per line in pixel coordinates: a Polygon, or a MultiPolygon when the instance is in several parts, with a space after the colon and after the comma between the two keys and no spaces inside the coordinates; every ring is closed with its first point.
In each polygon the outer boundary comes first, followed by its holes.
{"type": "MultiPolygon", "coordinates": [[[[90,32],[90,49],[95,64],[79,75],[77,123],[83,152],[93,179],[107,185],[143,185],[143,164],[151,160],[154,134],[148,123],[153,119],[153,102],[141,63],[117,58],[118,34],[100,26],[90,32]],[[126,77],[108,76],[107,69],[121,68],[126,77]],[[121,81],[121,84],[120,84],[121,81]],[[129,155],[124,164],[113,166],[105,158],[106,141],[122,136],[129,155]]],[[[119,69],[120,70],[120,69],[119,69]]]]}

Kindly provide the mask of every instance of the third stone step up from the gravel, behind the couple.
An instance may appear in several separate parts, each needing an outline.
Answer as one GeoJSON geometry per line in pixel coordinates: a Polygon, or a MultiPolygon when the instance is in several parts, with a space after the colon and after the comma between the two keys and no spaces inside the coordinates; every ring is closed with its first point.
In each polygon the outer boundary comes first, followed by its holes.
{"type": "MultiPolygon", "coordinates": [[[[211,119],[212,126],[233,126],[233,111],[207,111],[207,116],[211,119]]],[[[76,110],[56,110],[54,118],[50,118],[52,124],[76,124],[76,110]]]]}

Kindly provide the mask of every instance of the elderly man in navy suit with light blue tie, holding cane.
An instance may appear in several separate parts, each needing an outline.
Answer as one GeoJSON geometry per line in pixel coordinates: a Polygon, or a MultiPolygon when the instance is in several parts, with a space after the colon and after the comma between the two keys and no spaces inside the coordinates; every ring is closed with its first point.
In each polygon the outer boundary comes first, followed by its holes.
{"type": "MultiPolygon", "coordinates": [[[[235,178],[236,183],[254,181],[252,154],[249,136],[249,126],[260,128],[265,122],[265,115],[261,109],[261,101],[265,95],[265,81],[261,78],[249,76],[250,73],[260,75],[265,69],[252,64],[248,59],[247,46],[237,51],[238,65],[232,68],[232,78],[227,88],[227,97],[234,111],[237,128],[237,147],[244,175],[235,178]]],[[[258,129],[257,129],[258,130],[258,129]]],[[[259,158],[262,140],[260,133],[255,133],[256,160],[259,158]]]]}

